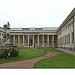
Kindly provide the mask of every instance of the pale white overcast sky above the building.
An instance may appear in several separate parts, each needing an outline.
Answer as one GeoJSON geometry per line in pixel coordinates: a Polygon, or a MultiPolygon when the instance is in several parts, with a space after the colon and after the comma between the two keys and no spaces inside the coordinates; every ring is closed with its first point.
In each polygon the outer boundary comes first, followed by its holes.
{"type": "Polygon", "coordinates": [[[59,27],[75,7],[75,0],[0,0],[0,26],[59,27]]]}

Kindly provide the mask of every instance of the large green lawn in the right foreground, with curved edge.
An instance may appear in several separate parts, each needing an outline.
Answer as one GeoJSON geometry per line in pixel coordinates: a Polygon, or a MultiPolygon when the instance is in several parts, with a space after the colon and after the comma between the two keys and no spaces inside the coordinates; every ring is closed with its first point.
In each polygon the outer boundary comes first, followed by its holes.
{"type": "Polygon", "coordinates": [[[38,61],[34,68],[75,68],[75,56],[58,54],[38,61]]]}

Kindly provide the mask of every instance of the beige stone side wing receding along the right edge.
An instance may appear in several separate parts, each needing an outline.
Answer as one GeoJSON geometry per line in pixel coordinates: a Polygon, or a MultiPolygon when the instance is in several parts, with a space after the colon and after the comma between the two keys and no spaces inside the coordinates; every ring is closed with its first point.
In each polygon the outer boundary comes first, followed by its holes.
{"type": "Polygon", "coordinates": [[[74,49],[75,47],[75,8],[57,29],[58,47],[74,49]]]}

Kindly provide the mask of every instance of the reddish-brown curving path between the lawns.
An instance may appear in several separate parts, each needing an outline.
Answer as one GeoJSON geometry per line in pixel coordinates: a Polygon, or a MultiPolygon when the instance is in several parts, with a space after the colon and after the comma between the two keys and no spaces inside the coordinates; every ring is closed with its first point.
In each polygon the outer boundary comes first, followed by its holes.
{"type": "Polygon", "coordinates": [[[47,51],[47,54],[41,57],[33,58],[33,59],[28,59],[24,61],[17,61],[17,62],[11,62],[11,63],[4,63],[0,64],[0,68],[33,68],[34,64],[38,62],[39,60],[55,56],[57,54],[61,54],[63,52],[52,52],[52,51],[47,51]]]}

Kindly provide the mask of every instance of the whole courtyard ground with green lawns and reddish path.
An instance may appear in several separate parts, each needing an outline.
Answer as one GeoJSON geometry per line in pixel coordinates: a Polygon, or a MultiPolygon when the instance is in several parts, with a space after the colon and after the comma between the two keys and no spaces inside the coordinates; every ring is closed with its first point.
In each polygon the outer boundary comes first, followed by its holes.
{"type": "Polygon", "coordinates": [[[0,59],[0,68],[75,68],[75,56],[55,48],[19,48],[19,51],[17,57],[0,59]]]}

